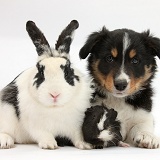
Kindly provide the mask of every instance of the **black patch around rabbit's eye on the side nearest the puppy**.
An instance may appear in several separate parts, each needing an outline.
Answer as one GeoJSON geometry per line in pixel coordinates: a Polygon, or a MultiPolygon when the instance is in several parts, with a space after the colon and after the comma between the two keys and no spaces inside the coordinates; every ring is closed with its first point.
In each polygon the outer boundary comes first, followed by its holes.
{"type": "Polygon", "coordinates": [[[60,68],[64,71],[64,78],[66,80],[66,82],[68,84],[70,84],[71,86],[74,86],[74,79],[76,79],[77,81],[80,81],[79,76],[74,74],[74,69],[71,68],[71,63],[68,60],[66,65],[61,65],[60,68]]]}

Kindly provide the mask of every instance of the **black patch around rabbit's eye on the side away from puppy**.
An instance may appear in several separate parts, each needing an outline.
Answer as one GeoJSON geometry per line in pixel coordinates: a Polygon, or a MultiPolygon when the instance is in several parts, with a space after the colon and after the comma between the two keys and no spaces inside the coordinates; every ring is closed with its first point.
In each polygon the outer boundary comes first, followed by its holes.
{"type": "Polygon", "coordinates": [[[36,85],[36,87],[38,88],[45,80],[44,77],[45,66],[40,65],[40,63],[37,63],[36,67],[38,69],[38,73],[34,77],[34,79],[36,80],[34,81],[33,85],[36,85]]]}

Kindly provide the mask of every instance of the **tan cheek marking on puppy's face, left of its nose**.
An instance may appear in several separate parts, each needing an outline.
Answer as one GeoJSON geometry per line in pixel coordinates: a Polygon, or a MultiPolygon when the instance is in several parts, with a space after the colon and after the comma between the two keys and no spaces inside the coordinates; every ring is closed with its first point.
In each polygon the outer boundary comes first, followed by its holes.
{"type": "Polygon", "coordinates": [[[112,72],[110,72],[108,75],[103,75],[98,69],[99,61],[100,60],[97,60],[92,64],[94,77],[101,84],[101,86],[106,88],[106,90],[108,90],[109,92],[113,92],[113,74],[112,72]]]}

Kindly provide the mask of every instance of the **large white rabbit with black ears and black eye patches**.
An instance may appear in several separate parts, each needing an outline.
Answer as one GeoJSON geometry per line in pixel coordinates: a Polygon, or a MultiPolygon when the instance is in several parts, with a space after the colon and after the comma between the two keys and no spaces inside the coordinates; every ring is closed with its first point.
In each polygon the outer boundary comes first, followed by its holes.
{"type": "Polygon", "coordinates": [[[79,149],[84,142],[82,123],[90,106],[90,78],[69,59],[76,20],[62,31],[55,49],[33,21],[26,30],[38,53],[35,66],[23,71],[0,92],[0,148],[15,143],[37,143],[42,149],[58,148],[56,137],[67,137],[79,149]]]}

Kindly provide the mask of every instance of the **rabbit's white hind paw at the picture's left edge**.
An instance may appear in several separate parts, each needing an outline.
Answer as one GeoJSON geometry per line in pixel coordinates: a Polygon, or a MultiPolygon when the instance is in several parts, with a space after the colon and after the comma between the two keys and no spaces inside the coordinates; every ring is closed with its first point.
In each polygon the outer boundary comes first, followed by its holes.
{"type": "Polygon", "coordinates": [[[8,134],[0,133],[0,148],[9,149],[14,147],[14,140],[8,134]]]}

